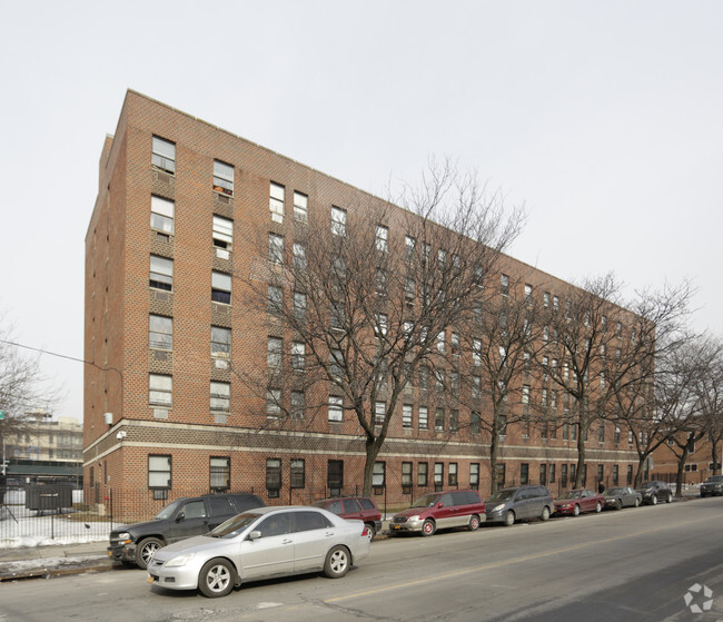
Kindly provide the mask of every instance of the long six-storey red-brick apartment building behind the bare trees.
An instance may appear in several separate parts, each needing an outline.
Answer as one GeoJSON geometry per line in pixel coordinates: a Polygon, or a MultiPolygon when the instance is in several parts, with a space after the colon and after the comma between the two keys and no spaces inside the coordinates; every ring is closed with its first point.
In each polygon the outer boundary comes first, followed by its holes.
{"type": "MultiPolygon", "coordinates": [[[[249,274],[259,260],[249,231],[284,238],[289,249],[307,214],[334,226],[346,209],[354,218],[360,198],[384,203],[127,92],[102,148],[86,237],[87,485],[142,490],[159,505],[187,491],[252,490],[269,503],[308,503],[360,490],[364,440],[353,416],[330,403],[311,422],[268,425],[267,396],[232,371],[263,367],[271,343],[288,348],[290,342],[239,304],[248,292],[232,275],[249,274]]],[[[389,229],[396,235],[404,231],[389,229]]],[[[545,306],[572,287],[503,260],[525,295],[545,293],[545,306]]],[[[453,343],[455,334],[446,338],[453,343]]],[[[456,423],[443,432],[422,396],[417,386],[405,395],[404,416],[378,456],[375,492],[392,502],[442,486],[487,494],[488,438],[456,423]]],[[[449,415],[463,419],[469,412],[449,415]]],[[[636,456],[627,432],[604,422],[591,432],[587,485],[632,481],[636,456]]],[[[573,480],[576,460],[574,430],[511,424],[499,480],[543,482],[557,493],[573,480]]]]}

